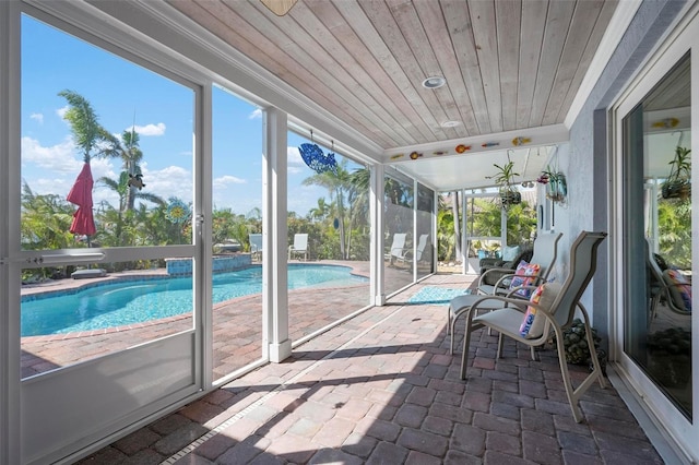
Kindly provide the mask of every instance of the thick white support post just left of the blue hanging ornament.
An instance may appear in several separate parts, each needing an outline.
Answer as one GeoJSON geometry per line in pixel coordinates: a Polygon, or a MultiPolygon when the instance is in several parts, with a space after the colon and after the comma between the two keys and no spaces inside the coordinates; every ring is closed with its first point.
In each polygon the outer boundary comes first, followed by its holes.
{"type": "Polygon", "coordinates": [[[266,318],[262,321],[270,361],[279,363],[292,355],[286,274],[287,118],[275,108],[264,115],[262,309],[266,318]]]}

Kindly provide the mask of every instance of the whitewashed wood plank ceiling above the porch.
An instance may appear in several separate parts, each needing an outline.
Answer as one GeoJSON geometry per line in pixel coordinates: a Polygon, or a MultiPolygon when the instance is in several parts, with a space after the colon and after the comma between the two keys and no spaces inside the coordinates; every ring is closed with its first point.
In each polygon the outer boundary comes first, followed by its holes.
{"type": "Polygon", "coordinates": [[[617,7],[298,0],[276,16],[258,0],[167,2],[387,156],[562,123],[617,7]],[[447,84],[427,90],[429,76],[447,84]]]}

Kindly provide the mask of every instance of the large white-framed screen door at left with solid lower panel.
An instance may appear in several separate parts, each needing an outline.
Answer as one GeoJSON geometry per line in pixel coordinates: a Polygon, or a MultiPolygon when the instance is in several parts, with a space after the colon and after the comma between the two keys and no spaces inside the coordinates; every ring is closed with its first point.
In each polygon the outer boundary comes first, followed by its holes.
{"type": "Polygon", "coordinates": [[[205,266],[200,87],[27,12],[10,259],[28,463],[62,460],[202,388],[205,266]]]}

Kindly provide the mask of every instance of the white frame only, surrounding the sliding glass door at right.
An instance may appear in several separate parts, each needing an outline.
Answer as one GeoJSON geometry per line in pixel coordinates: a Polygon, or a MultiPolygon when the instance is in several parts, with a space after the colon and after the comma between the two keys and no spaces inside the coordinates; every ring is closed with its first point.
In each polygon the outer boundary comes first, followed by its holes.
{"type": "MultiPolygon", "coordinates": [[[[691,128],[695,134],[699,134],[699,8],[695,4],[691,10],[678,20],[677,26],[672,31],[664,43],[659,46],[638,75],[627,86],[611,110],[611,121],[614,124],[613,150],[611,152],[609,169],[613,179],[611,190],[611,289],[609,289],[609,335],[611,355],[615,360],[614,368],[631,389],[635,397],[655,422],[657,430],[672,441],[685,460],[699,461],[699,319],[692,319],[692,422],[688,421],[672,402],[657,389],[645,375],[636,362],[624,351],[624,237],[626,226],[623,215],[623,119],[638,105],[651,88],[667,73],[679,59],[691,50],[691,128]],[[694,19],[694,21],[692,21],[694,19]]],[[[699,171],[699,138],[692,138],[692,177],[699,171]]],[[[697,205],[699,193],[692,192],[692,204],[697,205]]],[[[699,212],[692,211],[692,225],[699,224],[699,212]]],[[[694,229],[694,226],[692,226],[694,229]]],[[[692,271],[699,271],[699,236],[692,234],[692,271]]],[[[695,283],[692,290],[697,290],[699,283],[695,283]]]]}

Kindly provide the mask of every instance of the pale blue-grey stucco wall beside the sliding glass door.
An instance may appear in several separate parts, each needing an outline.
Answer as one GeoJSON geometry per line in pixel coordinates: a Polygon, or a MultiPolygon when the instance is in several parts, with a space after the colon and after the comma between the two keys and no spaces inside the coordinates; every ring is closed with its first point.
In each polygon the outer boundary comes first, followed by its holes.
{"type": "MultiPolygon", "coordinates": [[[[644,1],[570,129],[568,156],[559,166],[568,178],[568,207],[556,212],[564,260],[581,230],[609,231],[607,109],[666,33],[685,1],[644,1]]],[[[597,271],[582,302],[605,338],[609,327],[607,239],[600,248],[597,271]]]]}

